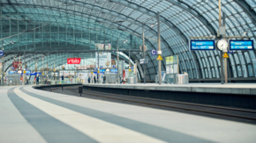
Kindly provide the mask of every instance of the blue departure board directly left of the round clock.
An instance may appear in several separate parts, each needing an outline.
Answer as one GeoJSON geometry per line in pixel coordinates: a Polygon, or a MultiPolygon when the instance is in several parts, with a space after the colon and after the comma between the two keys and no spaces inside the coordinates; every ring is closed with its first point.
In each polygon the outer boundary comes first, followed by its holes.
{"type": "Polygon", "coordinates": [[[215,40],[191,40],[190,50],[215,50],[215,40]]]}

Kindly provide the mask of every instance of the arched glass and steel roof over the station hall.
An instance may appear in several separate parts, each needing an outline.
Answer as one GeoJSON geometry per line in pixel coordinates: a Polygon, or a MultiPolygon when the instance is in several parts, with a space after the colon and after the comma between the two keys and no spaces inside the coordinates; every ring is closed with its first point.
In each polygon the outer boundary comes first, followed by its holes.
{"type": "MultiPolygon", "coordinates": [[[[17,52],[5,54],[5,68],[24,50],[39,51],[41,54],[28,55],[41,58],[42,54],[54,57],[63,53],[69,57],[74,50],[94,50],[96,43],[111,44],[113,50],[117,49],[117,43],[119,48],[139,49],[142,27],[148,49],[157,49],[156,13],[159,11],[162,57],[178,54],[179,70],[188,73],[191,81],[220,79],[218,51],[188,51],[189,37],[217,34],[217,0],[2,0],[0,4],[1,39],[24,32],[2,40],[4,43],[0,41],[4,51],[17,52]]],[[[255,38],[255,0],[222,0],[222,11],[227,16],[228,36],[247,32],[255,38]]],[[[127,57],[129,52],[123,54],[127,57]]],[[[90,56],[84,54],[84,58],[90,56]]],[[[255,50],[237,51],[229,56],[230,79],[255,80],[255,50]]],[[[138,61],[142,56],[132,52],[131,58],[138,61]]],[[[156,58],[147,51],[147,80],[154,80],[157,74],[156,58]]],[[[165,61],[162,61],[162,70],[165,70],[165,61]]]]}

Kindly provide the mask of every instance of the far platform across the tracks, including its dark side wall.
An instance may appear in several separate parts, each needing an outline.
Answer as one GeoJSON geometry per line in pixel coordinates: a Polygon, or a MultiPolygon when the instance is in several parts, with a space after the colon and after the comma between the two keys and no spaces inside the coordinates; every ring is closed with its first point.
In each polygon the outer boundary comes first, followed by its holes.
{"type": "Polygon", "coordinates": [[[190,83],[190,84],[83,84],[86,89],[149,97],[194,104],[212,104],[256,109],[255,83],[190,83]]]}

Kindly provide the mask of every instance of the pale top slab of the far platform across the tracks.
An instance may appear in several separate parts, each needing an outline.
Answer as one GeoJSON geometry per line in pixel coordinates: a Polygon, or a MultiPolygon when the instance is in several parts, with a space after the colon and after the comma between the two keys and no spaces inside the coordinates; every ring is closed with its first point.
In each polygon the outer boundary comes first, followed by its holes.
{"type": "Polygon", "coordinates": [[[115,88],[115,89],[146,89],[164,91],[204,92],[217,94],[256,95],[256,83],[189,83],[189,84],[166,84],[162,83],[137,83],[137,84],[98,84],[86,83],[85,86],[115,88]]]}

